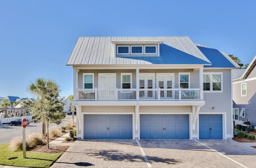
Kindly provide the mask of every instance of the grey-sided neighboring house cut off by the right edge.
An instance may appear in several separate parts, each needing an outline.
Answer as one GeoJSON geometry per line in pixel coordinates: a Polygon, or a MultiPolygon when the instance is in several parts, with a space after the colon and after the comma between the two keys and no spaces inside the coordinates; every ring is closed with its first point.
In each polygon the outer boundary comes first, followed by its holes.
{"type": "Polygon", "coordinates": [[[233,69],[233,120],[256,125],[256,56],[247,69],[233,69]]]}

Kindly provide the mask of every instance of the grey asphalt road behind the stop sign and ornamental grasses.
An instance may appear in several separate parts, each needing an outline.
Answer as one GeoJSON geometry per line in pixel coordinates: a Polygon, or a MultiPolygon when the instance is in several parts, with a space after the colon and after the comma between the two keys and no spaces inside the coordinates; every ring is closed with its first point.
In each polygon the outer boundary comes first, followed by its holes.
{"type": "MultiPolygon", "coordinates": [[[[75,116],[76,117],[76,116],[75,116]]],[[[65,126],[65,122],[68,122],[69,120],[72,119],[72,115],[67,115],[66,118],[69,119],[63,119],[62,123],[57,125],[57,124],[50,124],[50,128],[54,127],[60,127],[60,126],[65,126]]],[[[26,132],[42,132],[42,123],[30,123],[27,128],[26,132]]],[[[9,127],[2,127],[0,128],[0,145],[8,143],[11,141],[11,139],[15,136],[22,136],[22,127],[17,125],[17,126],[9,126],[9,127]]]]}

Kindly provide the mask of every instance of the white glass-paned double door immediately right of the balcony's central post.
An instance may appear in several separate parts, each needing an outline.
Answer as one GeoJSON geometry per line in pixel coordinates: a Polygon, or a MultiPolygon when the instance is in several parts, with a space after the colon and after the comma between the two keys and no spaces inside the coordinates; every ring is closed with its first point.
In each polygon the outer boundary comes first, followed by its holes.
{"type": "Polygon", "coordinates": [[[142,99],[156,99],[155,75],[154,74],[140,74],[139,75],[139,97],[142,99]]]}

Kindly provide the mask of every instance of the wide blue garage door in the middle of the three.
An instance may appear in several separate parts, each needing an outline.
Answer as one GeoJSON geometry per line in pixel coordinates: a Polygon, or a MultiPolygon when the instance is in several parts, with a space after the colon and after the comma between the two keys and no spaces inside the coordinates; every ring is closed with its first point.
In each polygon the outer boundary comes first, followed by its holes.
{"type": "Polygon", "coordinates": [[[189,115],[140,115],[140,139],[189,139],[189,115]]]}

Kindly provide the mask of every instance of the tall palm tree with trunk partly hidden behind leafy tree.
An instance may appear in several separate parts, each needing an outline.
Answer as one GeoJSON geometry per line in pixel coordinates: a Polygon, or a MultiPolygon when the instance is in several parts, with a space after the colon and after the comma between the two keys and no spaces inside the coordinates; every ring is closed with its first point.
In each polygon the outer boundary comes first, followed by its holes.
{"type": "MultiPolygon", "coordinates": [[[[37,78],[35,82],[30,82],[30,85],[27,87],[27,91],[31,94],[41,97],[41,94],[46,90],[47,85],[55,83],[53,79],[37,78]]],[[[45,136],[46,128],[45,123],[42,122],[42,134],[45,136]]]]}

